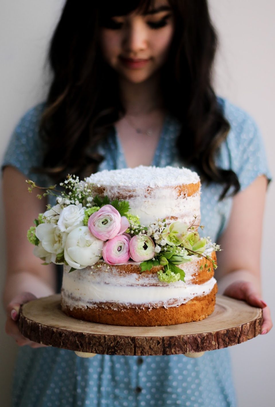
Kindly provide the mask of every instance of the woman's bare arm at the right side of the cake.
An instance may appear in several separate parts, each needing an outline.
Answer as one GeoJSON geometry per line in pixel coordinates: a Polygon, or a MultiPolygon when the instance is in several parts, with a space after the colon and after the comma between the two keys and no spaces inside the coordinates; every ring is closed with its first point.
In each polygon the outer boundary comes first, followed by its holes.
{"type": "Polygon", "coordinates": [[[262,300],[260,254],[266,177],[257,177],[238,193],[217,253],[219,292],[263,308],[262,333],[272,328],[269,308],[262,300]]]}

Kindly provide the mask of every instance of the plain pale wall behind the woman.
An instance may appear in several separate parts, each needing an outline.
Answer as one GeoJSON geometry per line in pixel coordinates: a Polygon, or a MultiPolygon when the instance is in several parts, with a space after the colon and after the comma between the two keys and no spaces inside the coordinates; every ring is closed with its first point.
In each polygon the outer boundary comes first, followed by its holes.
{"type": "MultiPolygon", "coordinates": [[[[0,160],[13,127],[24,112],[44,99],[48,78],[44,70],[48,40],[63,0],[0,0],[0,160]]],[[[220,34],[216,61],[216,90],[246,109],[263,133],[268,162],[275,174],[275,2],[273,0],[210,0],[220,34]]],[[[268,190],[262,249],[263,298],[274,314],[275,186],[268,190]]],[[[2,202],[0,230],[2,230],[2,202]]],[[[1,290],[4,284],[4,236],[0,237],[1,290]]],[[[273,315],[274,318],[274,315],[273,315]]],[[[9,387],[16,346],[4,333],[0,310],[1,406],[10,406],[9,387]]],[[[268,335],[231,348],[239,407],[274,404],[275,329],[268,335]]]]}

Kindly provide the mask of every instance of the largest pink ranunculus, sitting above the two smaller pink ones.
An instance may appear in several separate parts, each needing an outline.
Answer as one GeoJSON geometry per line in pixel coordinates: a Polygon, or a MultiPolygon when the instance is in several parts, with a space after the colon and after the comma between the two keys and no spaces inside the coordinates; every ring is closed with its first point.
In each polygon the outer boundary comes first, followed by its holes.
{"type": "Polygon", "coordinates": [[[104,205],[89,217],[88,228],[98,239],[108,240],[125,232],[129,221],[126,216],[120,216],[113,206],[104,205]]]}

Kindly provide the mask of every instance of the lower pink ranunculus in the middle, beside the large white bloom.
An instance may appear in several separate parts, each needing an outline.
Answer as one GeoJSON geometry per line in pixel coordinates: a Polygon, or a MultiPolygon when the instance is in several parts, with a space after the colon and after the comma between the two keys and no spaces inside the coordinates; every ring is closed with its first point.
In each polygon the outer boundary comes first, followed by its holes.
{"type": "Polygon", "coordinates": [[[130,258],[128,237],[122,234],[105,242],[102,257],[108,264],[126,263],[130,258]]]}

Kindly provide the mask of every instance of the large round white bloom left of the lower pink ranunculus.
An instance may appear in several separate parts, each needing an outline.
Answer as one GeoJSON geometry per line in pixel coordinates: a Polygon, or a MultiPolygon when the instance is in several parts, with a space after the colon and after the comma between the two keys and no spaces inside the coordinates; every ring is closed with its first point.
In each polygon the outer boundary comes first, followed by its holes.
{"type": "Polygon", "coordinates": [[[74,269],[92,266],[101,257],[103,240],[97,239],[87,226],[75,228],[68,234],[64,258],[74,269]]]}

